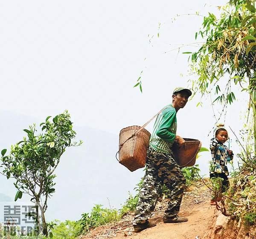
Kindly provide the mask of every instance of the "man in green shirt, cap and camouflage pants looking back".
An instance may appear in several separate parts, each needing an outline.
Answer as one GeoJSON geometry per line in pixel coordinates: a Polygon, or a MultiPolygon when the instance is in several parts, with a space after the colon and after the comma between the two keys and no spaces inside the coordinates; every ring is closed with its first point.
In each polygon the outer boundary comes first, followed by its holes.
{"type": "Polygon", "coordinates": [[[172,191],[167,209],[163,216],[164,223],[187,222],[187,218],[179,217],[180,203],[185,187],[185,178],[173,159],[172,144],[183,145],[185,140],[176,135],[176,113],[183,108],[192,92],[178,87],[173,91],[172,104],[157,116],[147,152],[147,168],[140,190],[139,201],[134,216],[134,231],[139,232],[156,224],[149,222],[157,200],[161,194],[161,186],[166,185],[172,191]]]}

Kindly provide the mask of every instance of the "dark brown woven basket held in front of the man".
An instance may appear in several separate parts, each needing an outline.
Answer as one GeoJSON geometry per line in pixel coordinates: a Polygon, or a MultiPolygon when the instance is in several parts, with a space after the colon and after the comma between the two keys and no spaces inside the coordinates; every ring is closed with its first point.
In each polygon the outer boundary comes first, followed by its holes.
{"type": "Polygon", "coordinates": [[[180,167],[189,167],[195,165],[196,156],[202,146],[198,139],[184,138],[185,143],[182,146],[176,143],[172,146],[174,159],[180,167]]]}

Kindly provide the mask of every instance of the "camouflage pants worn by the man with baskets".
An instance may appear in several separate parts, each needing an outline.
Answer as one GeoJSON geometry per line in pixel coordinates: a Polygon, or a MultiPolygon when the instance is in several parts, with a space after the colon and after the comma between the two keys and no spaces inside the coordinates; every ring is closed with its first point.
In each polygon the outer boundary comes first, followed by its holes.
{"type": "Polygon", "coordinates": [[[134,213],[133,225],[145,223],[151,217],[162,193],[163,184],[172,191],[164,217],[175,219],[180,211],[185,182],[186,179],[171,155],[149,148],[146,173],[134,213]]]}

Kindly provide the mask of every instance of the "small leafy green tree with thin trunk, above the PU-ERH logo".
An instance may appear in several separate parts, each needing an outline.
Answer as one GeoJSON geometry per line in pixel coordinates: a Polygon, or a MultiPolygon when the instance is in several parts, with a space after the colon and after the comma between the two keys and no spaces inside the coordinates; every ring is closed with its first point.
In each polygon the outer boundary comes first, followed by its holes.
{"type": "MultiPolygon", "coordinates": [[[[54,174],[61,155],[70,146],[81,145],[73,142],[76,132],[73,130],[70,115],[67,111],[52,119],[47,117],[45,122],[40,124],[41,134],[37,134],[35,124],[24,129],[27,137],[11,146],[9,155],[6,149],[1,151],[3,174],[15,179],[17,193],[15,201],[22,197],[23,193],[31,196],[31,201],[35,203],[37,213],[33,216],[38,232],[42,231],[48,236],[45,212],[47,210],[47,200],[55,192],[54,174]]],[[[52,236],[52,234],[50,234],[52,236]]]]}

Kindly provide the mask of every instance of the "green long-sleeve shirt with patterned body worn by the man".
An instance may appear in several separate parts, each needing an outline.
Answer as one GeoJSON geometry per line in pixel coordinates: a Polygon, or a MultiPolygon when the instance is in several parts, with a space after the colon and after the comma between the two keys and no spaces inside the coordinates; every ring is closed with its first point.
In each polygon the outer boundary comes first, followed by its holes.
{"type": "Polygon", "coordinates": [[[167,105],[154,123],[149,146],[160,153],[171,153],[177,130],[176,110],[172,104],[167,105]],[[167,108],[166,108],[167,107],[167,108]]]}

